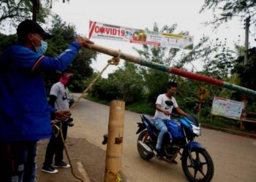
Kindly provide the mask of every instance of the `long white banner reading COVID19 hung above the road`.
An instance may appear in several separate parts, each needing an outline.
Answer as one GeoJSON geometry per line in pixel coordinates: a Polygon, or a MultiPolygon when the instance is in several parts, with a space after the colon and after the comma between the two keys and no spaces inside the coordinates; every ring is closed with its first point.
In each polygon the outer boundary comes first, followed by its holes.
{"type": "Polygon", "coordinates": [[[121,27],[90,21],[89,39],[111,39],[128,41],[133,44],[146,44],[157,47],[171,47],[177,49],[193,49],[193,36],[175,35],[143,31],[135,28],[121,27]]]}

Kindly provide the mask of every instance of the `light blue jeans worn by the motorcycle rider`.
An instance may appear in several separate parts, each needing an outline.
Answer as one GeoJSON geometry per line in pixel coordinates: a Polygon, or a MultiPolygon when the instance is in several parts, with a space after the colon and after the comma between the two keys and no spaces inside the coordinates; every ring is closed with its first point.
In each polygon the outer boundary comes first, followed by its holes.
{"type": "Polygon", "coordinates": [[[165,125],[165,122],[168,119],[160,119],[160,118],[155,118],[153,119],[154,126],[157,127],[157,130],[159,130],[158,138],[157,138],[157,146],[156,149],[159,150],[162,147],[162,138],[165,135],[165,132],[167,132],[167,127],[165,125]]]}

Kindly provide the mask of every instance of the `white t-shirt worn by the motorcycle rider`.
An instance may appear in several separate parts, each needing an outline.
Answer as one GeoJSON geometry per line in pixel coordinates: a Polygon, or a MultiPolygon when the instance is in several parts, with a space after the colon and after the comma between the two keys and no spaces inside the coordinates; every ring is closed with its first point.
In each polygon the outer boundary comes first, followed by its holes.
{"type": "MultiPolygon", "coordinates": [[[[170,113],[172,113],[173,111],[173,107],[174,108],[178,108],[178,103],[176,102],[175,98],[167,98],[167,96],[164,94],[158,95],[157,97],[157,101],[156,101],[156,105],[159,104],[161,106],[161,108],[164,108],[167,111],[170,111],[170,113]],[[165,100],[172,100],[173,101],[173,106],[167,106],[165,103],[165,100]]],[[[160,118],[160,119],[170,119],[170,116],[165,115],[163,112],[158,111],[156,109],[156,112],[154,114],[154,119],[155,118],[160,118]]]]}

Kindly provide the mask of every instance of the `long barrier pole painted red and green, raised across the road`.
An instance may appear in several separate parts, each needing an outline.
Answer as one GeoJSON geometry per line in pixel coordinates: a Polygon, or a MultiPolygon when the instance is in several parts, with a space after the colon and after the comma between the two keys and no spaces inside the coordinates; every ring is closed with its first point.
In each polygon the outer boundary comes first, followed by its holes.
{"type": "Polygon", "coordinates": [[[128,55],[127,53],[119,52],[117,50],[111,50],[110,48],[102,47],[102,46],[99,46],[97,44],[92,44],[90,49],[94,50],[94,51],[97,51],[97,52],[102,52],[106,55],[111,55],[113,57],[118,57],[119,56],[119,58],[121,58],[121,59],[127,60],[127,61],[132,62],[132,63],[139,64],[141,66],[147,66],[149,68],[154,68],[154,69],[157,69],[157,70],[160,70],[160,71],[169,72],[170,74],[176,74],[176,75],[179,75],[179,76],[182,76],[182,77],[186,77],[188,79],[195,79],[195,80],[200,81],[200,82],[206,82],[208,84],[214,84],[214,85],[217,85],[219,87],[225,87],[229,90],[236,90],[236,91],[244,93],[246,95],[256,96],[256,91],[255,90],[250,90],[250,89],[247,89],[245,87],[238,86],[236,84],[230,84],[230,83],[227,83],[227,82],[223,82],[219,79],[214,79],[214,78],[211,78],[211,77],[208,77],[208,76],[195,74],[195,73],[192,73],[192,72],[189,72],[189,71],[184,71],[184,70],[181,70],[181,69],[178,69],[178,68],[167,67],[167,66],[161,65],[159,63],[154,63],[150,60],[135,57],[133,55],[128,55]]]}

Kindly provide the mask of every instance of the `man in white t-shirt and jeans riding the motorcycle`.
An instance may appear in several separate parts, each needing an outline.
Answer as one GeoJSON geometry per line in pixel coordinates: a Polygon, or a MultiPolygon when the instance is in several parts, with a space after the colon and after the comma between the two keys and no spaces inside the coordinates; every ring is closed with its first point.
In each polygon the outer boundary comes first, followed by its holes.
{"type": "MultiPolygon", "coordinates": [[[[160,94],[157,97],[156,112],[154,114],[153,122],[155,127],[157,127],[157,130],[160,131],[157,138],[156,150],[154,150],[154,154],[158,158],[162,158],[162,153],[161,153],[162,138],[165,132],[167,132],[165,121],[170,119],[170,114],[173,111],[173,107],[176,109],[176,112],[178,114],[181,114],[182,116],[187,116],[186,112],[181,110],[181,108],[178,108],[176,99],[173,97],[173,95],[175,95],[175,93],[177,92],[177,89],[178,89],[178,85],[176,84],[176,82],[168,82],[167,92],[164,94],[160,94]],[[171,100],[173,102],[173,106],[167,106],[167,104],[165,103],[166,100],[171,100]]],[[[172,138],[170,138],[170,140],[172,140],[172,138]]]]}

